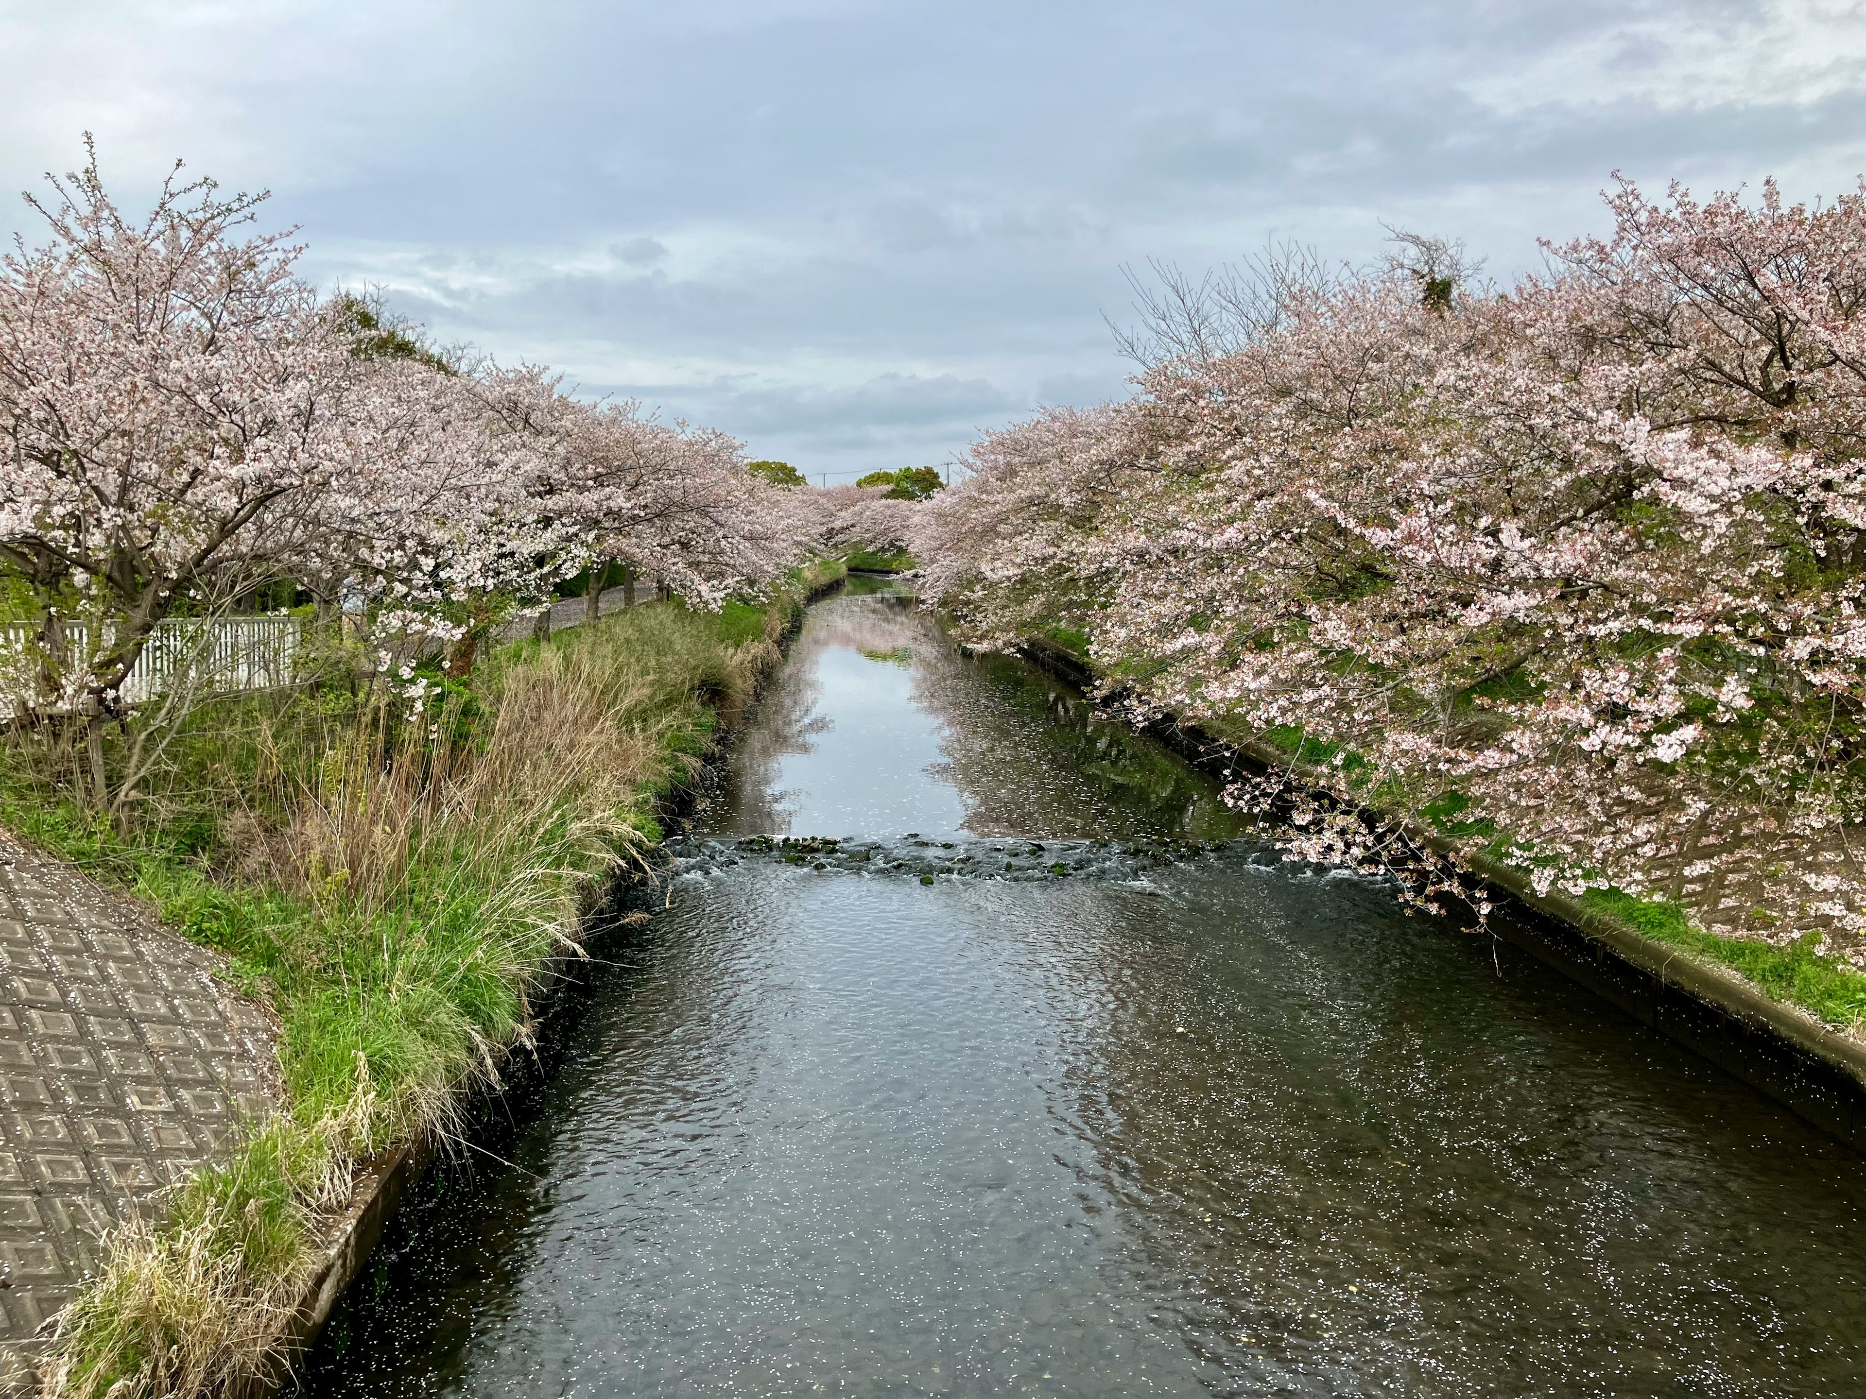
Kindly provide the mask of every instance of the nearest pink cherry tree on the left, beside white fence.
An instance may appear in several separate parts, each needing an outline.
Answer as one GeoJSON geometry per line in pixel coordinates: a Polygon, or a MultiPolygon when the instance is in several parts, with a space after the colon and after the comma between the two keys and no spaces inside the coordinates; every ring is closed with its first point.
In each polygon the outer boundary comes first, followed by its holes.
{"type": "Polygon", "coordinates": [[[50,241],[0,261],[0,560],[43,604],[35,701],[88,716],[93,754],[155,625],[317,530],[351,366],[287,235],[248,233],[263,198],[172,175],[132,222],[93,151],[28,196],[50,241]]]}

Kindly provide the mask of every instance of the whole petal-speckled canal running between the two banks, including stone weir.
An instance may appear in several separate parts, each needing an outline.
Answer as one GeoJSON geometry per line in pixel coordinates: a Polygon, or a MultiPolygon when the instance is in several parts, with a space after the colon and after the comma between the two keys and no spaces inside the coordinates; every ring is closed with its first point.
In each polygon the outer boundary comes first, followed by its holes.
{"type": "Polygon", "coordinates": [[[675,856],[310,1393],[1860,1393],[1857,1155],[905,599],[675,856]]]}

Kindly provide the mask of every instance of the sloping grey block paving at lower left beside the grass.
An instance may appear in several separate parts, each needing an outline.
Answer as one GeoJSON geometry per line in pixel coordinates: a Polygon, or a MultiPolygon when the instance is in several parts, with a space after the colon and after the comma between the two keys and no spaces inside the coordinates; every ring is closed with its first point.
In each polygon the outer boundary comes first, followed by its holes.
{"type": "Polygon", "coordinates": [[[103,1235],[274,1099],[271,1018],[216,964],[0,834],[0,1392],[103,1235]]]}

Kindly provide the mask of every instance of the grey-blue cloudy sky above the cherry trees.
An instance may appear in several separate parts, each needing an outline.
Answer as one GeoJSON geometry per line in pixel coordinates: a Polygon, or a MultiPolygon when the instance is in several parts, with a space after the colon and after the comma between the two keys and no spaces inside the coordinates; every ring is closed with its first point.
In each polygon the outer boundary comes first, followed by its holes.
{"type": "MultiPolygon", "coordinates": [[[[0,188],[271,188],[308,276],[812,478],[1123,392],[1123,267],[1381,222],[1508,278],[1623,170],[1866,172],[1866,13],[1786,0],[0,0],[0,188]]],[[[26,229],[0,205],[0,229],[26,229]]]]}

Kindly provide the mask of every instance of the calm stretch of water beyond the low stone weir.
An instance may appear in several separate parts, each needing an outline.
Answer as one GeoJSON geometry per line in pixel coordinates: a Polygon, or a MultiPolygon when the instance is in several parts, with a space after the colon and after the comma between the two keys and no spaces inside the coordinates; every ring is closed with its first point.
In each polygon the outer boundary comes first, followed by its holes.
{"type": "Polygon", "coordinates": [[[1245,830],[1217,783],[1097,718],[1062,683],[1004,657],[963,655],[901,589],[851,591],[810,610],[715,798],[705,824],[731,834],[1226,839],[1245,830]]]}

